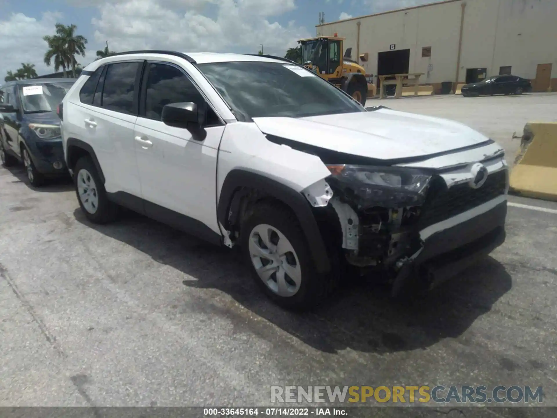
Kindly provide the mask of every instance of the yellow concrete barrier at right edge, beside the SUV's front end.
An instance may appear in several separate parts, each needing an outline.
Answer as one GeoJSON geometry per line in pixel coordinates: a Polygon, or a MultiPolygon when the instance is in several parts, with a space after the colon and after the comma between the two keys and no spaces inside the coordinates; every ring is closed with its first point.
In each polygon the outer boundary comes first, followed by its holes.
{"type": "Polygon", "coordinates": [[[557,201],[557,123],[527,123],[515,166],[510,192],[557,201]]]}

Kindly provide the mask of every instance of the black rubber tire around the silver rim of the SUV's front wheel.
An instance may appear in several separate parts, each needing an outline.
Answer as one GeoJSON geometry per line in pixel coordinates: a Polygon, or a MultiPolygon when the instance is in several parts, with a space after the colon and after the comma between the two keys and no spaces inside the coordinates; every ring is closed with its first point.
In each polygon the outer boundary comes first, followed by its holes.
{"type": "MultiPolygon", "coordinates": [[[[318,274],[312,260],[309,245],[294,213],[276,202],[256,203],[248,213],[241,227],[242,257],[251,270],[253,279],[268,298],[281,307],[293,310],[307,310],[323,302],[334,288],[334,274],[318,274]],[[294,295],[278,295],[260,278],[252,262],[250,239],[252,231],[260,225],[269,225],[283,234],[292,245],[300,264],[301,280],[294,295]]],[[[272,274],[271,274],[272,276],[272,274]]],[[[276,275],[275,279],[276,281],[276,275]]]]}

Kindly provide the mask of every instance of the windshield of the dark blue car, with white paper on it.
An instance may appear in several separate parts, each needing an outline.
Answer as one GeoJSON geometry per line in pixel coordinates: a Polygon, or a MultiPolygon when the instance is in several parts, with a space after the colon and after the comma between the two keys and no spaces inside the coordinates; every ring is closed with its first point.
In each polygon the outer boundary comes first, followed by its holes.
{"type": "Polygon", "coordinates": [[[26,84],[19,87],[19,97],[25,113],[55,111],[62,103],[74,81],[26,84]]]}

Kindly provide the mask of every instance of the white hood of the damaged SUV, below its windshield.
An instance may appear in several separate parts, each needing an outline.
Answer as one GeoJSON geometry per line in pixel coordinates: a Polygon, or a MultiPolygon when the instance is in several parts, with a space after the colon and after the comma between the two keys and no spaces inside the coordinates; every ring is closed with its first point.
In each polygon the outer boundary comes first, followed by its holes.
{"type": "Polygon", "coordinates": [[[419,159],[485,143],[461,123],[380,109],[307,118],[253,118],[265,134],[380,160],[419,159]]]}

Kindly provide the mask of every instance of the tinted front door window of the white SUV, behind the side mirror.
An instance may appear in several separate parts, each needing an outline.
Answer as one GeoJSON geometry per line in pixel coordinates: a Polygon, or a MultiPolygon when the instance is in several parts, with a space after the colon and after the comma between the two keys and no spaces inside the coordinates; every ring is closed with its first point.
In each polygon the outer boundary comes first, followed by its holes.
{"type": "Polygon", "coordinates": [[[206,126],[220,125],[221,121],[203,95],[183,71],[167,64],[150,64],[145,93],[145,117],[160,120],[163,107],[170,103],[192,101],[200,111],[207,111],[206,126]]]}

